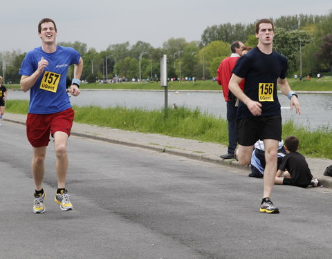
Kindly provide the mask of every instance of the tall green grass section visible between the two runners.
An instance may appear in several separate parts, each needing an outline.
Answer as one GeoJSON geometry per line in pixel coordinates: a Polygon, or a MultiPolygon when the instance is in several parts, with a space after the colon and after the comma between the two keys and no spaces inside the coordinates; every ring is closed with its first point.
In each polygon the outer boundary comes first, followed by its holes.
{"type": "Polygon", "coordinates": [[[167,117],[163,109],[146,111],[138,108],[100,108],[84,106],[75,108],[75,122],[121,128],[142,133],[160,133],[205,142],[227,142],[227,123],[198,109],[190,111],[180,107],[169,109],[167,117]]]}

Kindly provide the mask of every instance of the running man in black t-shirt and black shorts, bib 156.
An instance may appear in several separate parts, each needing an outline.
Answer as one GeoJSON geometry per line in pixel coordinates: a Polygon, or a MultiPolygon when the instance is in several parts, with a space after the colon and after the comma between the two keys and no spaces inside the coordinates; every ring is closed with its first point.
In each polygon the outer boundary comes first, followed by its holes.
{"type": "Polygon", "coordinates": [[[282,116],[277,97],[277,86],[291,100],[291,110],[301,113],[297,95],[286,79],[288,61],[273,51],[274,28],[269,19],[256,23],[258,45],[239,59],[234,67],[229,88],[241,101],[237,110],[236,157],[241,165],[250,164],[252,149],[257,140],[265,146],[264,193],[261,212],[279,213],[270,200],[277,173],[278,142],[282,140],[282,116]],[[243,92],[239,87],[245,79],[243,92]]]}

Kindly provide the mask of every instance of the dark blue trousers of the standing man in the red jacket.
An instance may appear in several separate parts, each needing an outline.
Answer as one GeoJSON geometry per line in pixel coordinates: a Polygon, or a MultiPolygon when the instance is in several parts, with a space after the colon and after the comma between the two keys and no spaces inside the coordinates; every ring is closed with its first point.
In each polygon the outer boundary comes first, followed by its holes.
{"type": "Polygon", "coordinates": [[[237,106],[235,101],[226,102],[228,120],[228,153],[234,154],[237,147],[237,106]]]}

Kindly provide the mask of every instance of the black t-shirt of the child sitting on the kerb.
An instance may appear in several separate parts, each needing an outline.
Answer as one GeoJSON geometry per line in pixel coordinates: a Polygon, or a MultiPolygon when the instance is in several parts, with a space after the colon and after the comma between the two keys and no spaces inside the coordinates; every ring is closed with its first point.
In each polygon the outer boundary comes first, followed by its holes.
{"type": "Polygon", "coordinates": [[[279,170],[288,171],[298,185],[308,185],[313,178],[306,158],[298,152],[291,152],[282,158],[279,170]]]}

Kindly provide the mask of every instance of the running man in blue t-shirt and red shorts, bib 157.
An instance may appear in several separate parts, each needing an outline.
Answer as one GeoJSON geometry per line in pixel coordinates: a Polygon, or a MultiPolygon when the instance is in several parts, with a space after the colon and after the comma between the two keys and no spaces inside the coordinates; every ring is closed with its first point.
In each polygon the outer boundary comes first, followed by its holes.
{"type": "Polygon", "coordinates": [[[44,160],[50,135],[54,138],[57,157],[57,191],[55,202],[63,211],[73,209],[66,189],[68,169],[67,142],[73,126],[74,111],[67,91],[73,96],[80,94],[80,77],[83,60],[73,48],[57,46],[57,26],[52,19],[39,21],[38,35],[42,46],[29,51],[22,62],[21,89],[30,90],[30,104],[26,119],[26,133],[33,146],[32,171],[35,180],[34,213],[45,211],[46,194],[42,187],[44,160]],[[74,64],[74,79],[66,89],[68,66],[74,64]]]}

